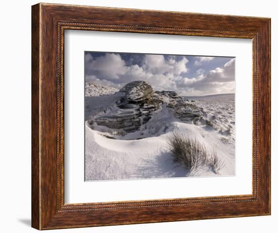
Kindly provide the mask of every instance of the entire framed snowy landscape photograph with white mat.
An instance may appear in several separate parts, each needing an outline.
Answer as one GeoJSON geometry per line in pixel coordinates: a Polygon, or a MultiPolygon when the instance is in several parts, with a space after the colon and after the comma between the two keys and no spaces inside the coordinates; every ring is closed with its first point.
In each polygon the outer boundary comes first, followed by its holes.
{"type": "Polygon", "coordinates": [[[269,18],[32,6],[32,227],[269,214],[269,18]]]}

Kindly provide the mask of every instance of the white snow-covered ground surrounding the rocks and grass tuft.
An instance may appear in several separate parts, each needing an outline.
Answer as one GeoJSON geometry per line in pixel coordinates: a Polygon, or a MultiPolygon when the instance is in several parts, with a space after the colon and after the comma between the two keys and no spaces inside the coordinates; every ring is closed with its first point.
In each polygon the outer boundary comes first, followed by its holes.
{"type": "Polygon", "coordinates": [[[91,116],[111,108],[111,103],[119,98],[120,94],[117,91],[112,87],[86,83],[85,180],[235,174],[234,95],[185,97],[203,108],[206,117],[213,119],[213,126],[181,122],[173,116],[171,110],[162,108],[144,126],[148,132],[140,130],[125,135],[114,135],[105,133],[105,126],[91,126],[88,122],[91,116]],[[155,133],[150,133],[152,130],[155,133]],[[196,138],[210,151],[216,150],[218,157],[225,162],[225,166],[216,174],[209,167],[203,166],[190,172],[174,164],[167,144],[167,136],[174,132],[181,132],[193,139],[196,138]]]}

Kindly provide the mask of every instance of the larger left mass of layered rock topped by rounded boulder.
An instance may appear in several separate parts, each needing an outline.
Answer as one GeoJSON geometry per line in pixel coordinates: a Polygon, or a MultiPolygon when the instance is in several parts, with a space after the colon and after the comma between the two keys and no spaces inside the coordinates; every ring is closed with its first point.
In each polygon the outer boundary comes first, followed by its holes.
{"type": "Polygon", "coordinates": [[[145,81],[127,83],[119,93],[121,98],[116,101],[116,106],[95,118],[98,125],[134,132],[161,108],[162,100],[145,81]]]}

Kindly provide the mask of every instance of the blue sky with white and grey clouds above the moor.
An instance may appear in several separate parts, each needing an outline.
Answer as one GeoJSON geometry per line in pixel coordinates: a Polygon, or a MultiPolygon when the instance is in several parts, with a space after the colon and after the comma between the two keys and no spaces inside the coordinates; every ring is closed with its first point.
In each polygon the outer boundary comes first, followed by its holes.
{"type": "Polygon", "coordinates": [[[148,81],[181,96],[235,92],[235,58],[85,52],[85,80],[121,88],[148,81]]]}

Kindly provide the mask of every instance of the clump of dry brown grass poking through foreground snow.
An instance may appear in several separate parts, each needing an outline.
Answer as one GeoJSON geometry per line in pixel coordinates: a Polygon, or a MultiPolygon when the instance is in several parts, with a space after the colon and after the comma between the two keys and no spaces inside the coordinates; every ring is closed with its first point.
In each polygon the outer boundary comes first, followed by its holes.
{"type": "Polygon", "coordinates": [[[174,133],[167,137],[167,143],[173,161],[190,171],[195,171],[198,167],[205,165],[218,173],[225,165],[215,150],[210,152],[196,138],[192,139],[187,135],[174,133]]]}

